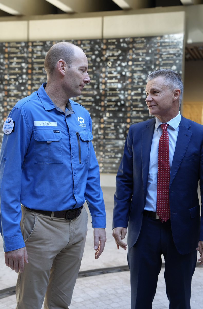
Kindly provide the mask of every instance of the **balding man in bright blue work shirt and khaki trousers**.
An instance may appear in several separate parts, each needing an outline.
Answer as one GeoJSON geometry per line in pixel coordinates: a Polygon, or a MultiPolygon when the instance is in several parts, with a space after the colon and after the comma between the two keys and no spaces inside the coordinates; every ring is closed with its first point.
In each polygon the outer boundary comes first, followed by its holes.
{"type": "Polygon", "coordinates": [[[72,101],[86,83],[87,57],[53,45],[48,82],[21,99],[4,123],[0,154],[1,232],[6,265],[19,272],[17,308],[68,308],[87,235],[85,200],[97,259],[105,207],[87,110],[72,101]]]}

